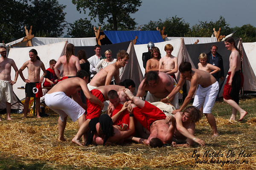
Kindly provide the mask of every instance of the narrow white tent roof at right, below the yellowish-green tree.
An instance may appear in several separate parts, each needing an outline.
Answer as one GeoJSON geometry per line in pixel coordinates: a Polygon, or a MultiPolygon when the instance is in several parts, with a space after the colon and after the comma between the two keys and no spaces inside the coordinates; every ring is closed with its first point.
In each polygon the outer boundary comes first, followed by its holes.
{"type": "MultiPolygon", "coordinates": [[[[166,41],[180,39],[181,37],[167,37],[166,41]]],[[[216,37],[183,37],[185,44],[194,44],[199,40],[198,44],[204,44],[209,42],[217,42],[216,37]]]]}

